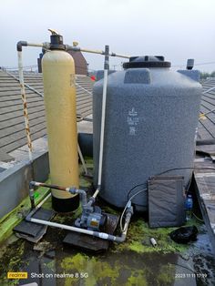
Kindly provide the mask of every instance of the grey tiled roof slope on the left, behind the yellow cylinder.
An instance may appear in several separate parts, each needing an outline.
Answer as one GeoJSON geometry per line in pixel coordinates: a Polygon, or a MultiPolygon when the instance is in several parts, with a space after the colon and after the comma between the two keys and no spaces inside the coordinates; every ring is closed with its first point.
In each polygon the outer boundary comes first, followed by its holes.
{"type": "MultiPolygon", "coordinates": [[[[17,73],[0,71],[0,161],[10,159],[7,153],[26,145],[23,104],[15,77],[17,73]]],[[[31,138],[35,140],[46,135],[42,75],[26,73],[25,83],[29,86],[26,100],[31,138]]],[[[92,87],[89,77],[77,76],[77,113],[83,117],[92,114],[92,87]]]]}

